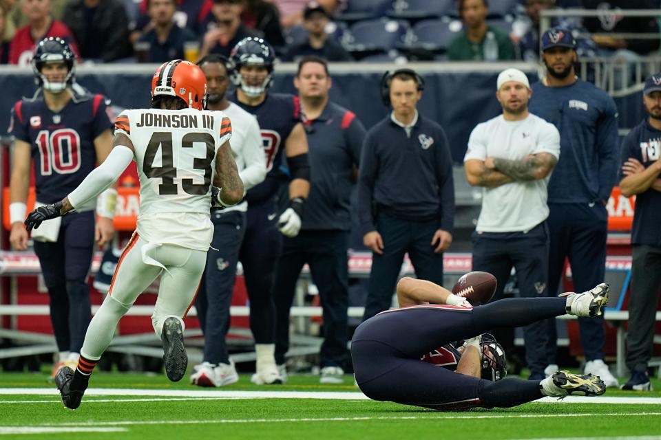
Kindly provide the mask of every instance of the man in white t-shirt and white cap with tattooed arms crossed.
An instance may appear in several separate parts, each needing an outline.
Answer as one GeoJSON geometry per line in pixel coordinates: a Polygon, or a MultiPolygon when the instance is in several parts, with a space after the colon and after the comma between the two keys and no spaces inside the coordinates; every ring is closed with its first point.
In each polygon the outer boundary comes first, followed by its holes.
{"type": "MultiPolygon", "coordinates": [[[[512,266],[521,296],[547,296],[546,186],[560,155],[560,133],[529,113],[530,95],[521,70],[501,72],[496,98],[503,115],[475,127],[463,159],[468,183],[484,187],[472,267],[496,277],[496,300],[503,296],[512,266]]],[[[525,327],[523,335],[530,379],[541,380],[547,366],[545,322],[525,327]]]]}

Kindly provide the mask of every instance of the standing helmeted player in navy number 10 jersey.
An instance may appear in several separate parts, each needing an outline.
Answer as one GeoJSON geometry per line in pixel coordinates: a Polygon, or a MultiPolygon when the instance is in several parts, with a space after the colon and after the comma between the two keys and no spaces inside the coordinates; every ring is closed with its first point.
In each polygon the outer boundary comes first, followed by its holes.
{"type": "MultiPolygon", "coordinates": [[[[32,159],[36,203],[47,204],[74,190],[112,148],[109,101],[74,83],[75,63],[76,56],[65,41],[43,39],[32,58],[39,89],[32,98],[23,98],[12,107],[8,131],[16,139],[10,181],[10,243],[14,250],[25,250],[28,245],[23,220],[32,159]]],[[[53,374],[65,363],[78,362],[91,316],[87,272],[94,242],[104,245],[114,234],[115,200],[114,189],[99,197],[98,221],[92,204],[32,233],[48,287],[59,351],[53,374]]]]}

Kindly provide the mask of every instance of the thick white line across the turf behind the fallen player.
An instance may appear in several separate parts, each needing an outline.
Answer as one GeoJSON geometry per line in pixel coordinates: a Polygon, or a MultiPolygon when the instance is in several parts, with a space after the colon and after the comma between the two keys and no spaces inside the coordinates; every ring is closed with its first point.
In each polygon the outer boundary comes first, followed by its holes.
{"type": "MultiPolygon", "coordinates": [[[[55,388],[0,388],[0,395],[58,395],[55,388]]],[[[231,391],[231,390],[160,390],[134,388],[89,388],[85,397],[92,396],[154,396],[154,397],[186,397],[187,399],[216,398],[216,399],[332,399],[332,400],[369,400],[369,397],[360,392],[350,391],[231,391]]],[[[121,399],[129,401],[128,399],[121,399]]],[[[148,400],[148,399],[146,399],[148,400]]],[[[92,402],[94,399],[85,399],[92,402]]],[[[112,401],[112,400],[111,400],[112,401]]],[[[135,401],[145,401],[135,399],[135,401]]],[[[554,397],[544,397],[537,400],[543,403],[565,404],[661,404],[661,397],[583,397],[568,396],[563,400],[554,397]]],[[[9,401],[0,400],[0,404],[9,401]]],[[[25,403],[25,401],[11,401],[12,403],[25,403]]]]}

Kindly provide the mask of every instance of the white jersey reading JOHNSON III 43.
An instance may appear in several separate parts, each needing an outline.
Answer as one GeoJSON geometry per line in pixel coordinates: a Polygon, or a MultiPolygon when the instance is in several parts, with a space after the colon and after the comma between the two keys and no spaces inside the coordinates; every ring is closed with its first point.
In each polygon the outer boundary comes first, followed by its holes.
{"type": "Polygon", "coordinates": [[[150,243],[207,250],[216,152],[231,137],[222,111],[125,110],[115,133],[133,142],[140,177],[138,234],[150,243]]]}

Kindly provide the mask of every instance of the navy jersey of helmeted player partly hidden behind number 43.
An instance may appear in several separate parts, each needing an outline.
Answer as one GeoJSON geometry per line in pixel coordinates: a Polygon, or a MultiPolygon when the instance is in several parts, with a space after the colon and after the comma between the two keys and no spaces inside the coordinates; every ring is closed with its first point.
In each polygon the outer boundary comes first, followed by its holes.
{"type": "Polygon", "coordinates": [[[281,168],[284,142],[294,126],[301,122],[301,106],[297,96],[290,94],[266,94],[264,102],[250,106],[239,102],[234,92],[230,99],[257,118],[262,131],[264,154],[266,155],[266,179],[248,190],[248,203],[259,203],[271,199],[288,177],[281,168]]]}

